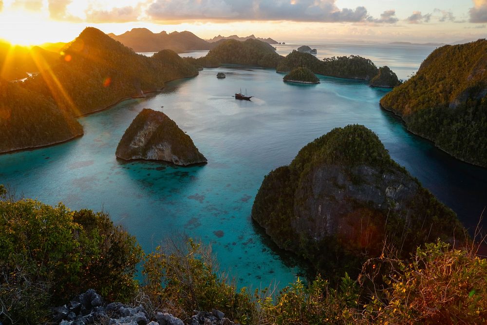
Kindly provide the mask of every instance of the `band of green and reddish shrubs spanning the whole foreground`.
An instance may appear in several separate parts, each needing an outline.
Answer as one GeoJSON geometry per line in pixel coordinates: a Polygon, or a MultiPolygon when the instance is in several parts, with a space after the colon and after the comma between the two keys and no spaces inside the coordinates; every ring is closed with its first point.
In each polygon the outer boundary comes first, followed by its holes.
{"type": "Polygon", "coordinates": [[[148,254],[104,213],[14,201],[0,186],[0,322],[40,324],[48,308],[94,288],[107,300],[142,304],[150,315],[222,310],[240,324],[479,324],[487,321],[487,260],[441,241],[408,259],[371,259],[358,280],[321,276],[273,289],[237,289],[211,248],[187,239],[148,254]]]}

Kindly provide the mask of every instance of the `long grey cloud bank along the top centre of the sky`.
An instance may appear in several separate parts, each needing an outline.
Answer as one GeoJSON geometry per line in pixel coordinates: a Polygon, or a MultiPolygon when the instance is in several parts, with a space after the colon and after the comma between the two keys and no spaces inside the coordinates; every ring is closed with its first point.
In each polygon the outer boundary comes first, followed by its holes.
{"type": "Polygon", "coordinates": [[[369,15],[365,7],[338,8],[336,0],[155,0],[147,14],[158,20],[293,20],[358,22],[369,15]]]}

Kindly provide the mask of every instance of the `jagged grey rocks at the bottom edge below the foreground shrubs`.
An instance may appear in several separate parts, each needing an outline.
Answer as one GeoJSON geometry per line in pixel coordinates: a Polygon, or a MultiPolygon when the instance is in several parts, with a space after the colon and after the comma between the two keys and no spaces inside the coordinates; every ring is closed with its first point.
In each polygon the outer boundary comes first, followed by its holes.
{"type": "MultiPolygon", "coordinates": [[[[157,312],[151,320],[142,306],[121,303],[105,304],[93,289],[77,295],[69,304],[52,308],[52,322],[59,325],[184,325],[179,318],[167,312],[157,312]]],[[[235,325],[220,310],[194,311],[189,325],[235,325]]]]}

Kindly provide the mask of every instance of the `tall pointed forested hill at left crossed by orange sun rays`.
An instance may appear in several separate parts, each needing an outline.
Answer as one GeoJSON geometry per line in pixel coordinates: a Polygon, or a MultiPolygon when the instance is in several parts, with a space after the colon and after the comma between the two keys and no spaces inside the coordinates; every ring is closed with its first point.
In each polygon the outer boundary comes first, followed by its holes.
{"type": "Polygon", "coordinates": [[[86,28],[64,51],[49,73],[25,81],[25,87],[53,96],[74,116],[92,113],[164,82],[195,76],[197,70],[167,50],[155,57],[134,53],[96,28],[86,28]],[[170,58],[166,64],[164,58],[170,58]]]}

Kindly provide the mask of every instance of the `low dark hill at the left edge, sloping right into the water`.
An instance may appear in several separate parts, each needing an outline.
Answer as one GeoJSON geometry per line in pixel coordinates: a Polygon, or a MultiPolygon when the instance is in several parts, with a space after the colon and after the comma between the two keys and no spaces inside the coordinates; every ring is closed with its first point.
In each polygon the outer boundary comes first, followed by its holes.
{"type": "Polygon", "coordinates": [[[83,134],[53,100],[0,79],[0,153],[66,141],[83,134]]]}

